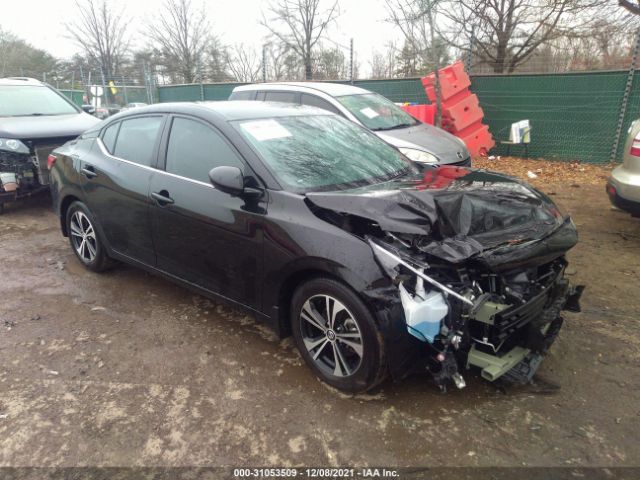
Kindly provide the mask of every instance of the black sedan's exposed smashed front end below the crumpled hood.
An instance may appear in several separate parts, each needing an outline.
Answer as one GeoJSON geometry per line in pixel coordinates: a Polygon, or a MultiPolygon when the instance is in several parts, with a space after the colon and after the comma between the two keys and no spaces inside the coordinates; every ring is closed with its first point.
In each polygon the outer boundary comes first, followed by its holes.
{"type": "Polygon", "coordinates": [[[375,239],[369,243],[394,279],[405,328],[421,341],[427,369],[443,390],[450,383],[463,388],[460,372],[472,367],[491,382],[530,382],[558,336],[562,310],[580,311],[584,287],[569,285],[562,257],[505,274],[458,267],[460,281],[444,282],[426,262],[375,239]],[[482,276],[488,279],[474,280],[482,276]]]}

